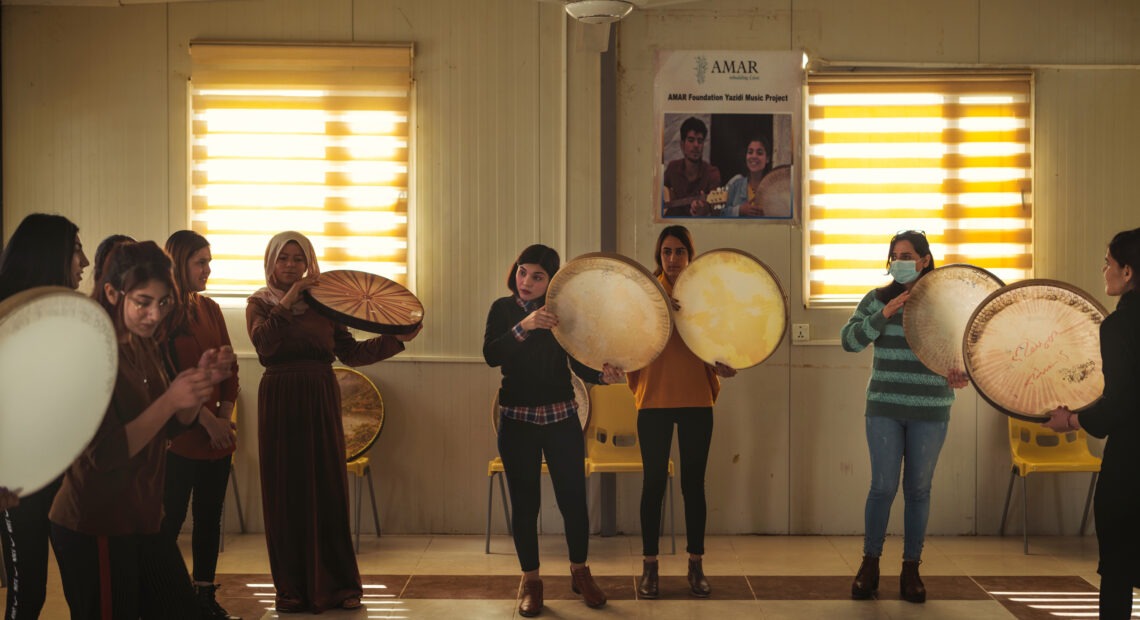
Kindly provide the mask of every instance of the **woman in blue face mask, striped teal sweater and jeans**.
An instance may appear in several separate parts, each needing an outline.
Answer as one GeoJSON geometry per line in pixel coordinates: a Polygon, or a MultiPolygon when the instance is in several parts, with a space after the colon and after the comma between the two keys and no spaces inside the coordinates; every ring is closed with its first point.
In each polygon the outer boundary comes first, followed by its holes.
{"type": "Polygon", "coordinates": [[[943,377],[923,366],[903,334],[903,311],[911,288],[933,270],[926,235],[898,232],[890,239],[887,255],[887,271],[894,280],[864,295],[840,332],[845,351],[858,352],[874,344],[866,388],[871,490],[864,508],[863,563],[852,584],[852,598],[871,598],[879,588],[879,556],[902,475],[905,509],[899,595],[911,603],[926,602],[919,563],[930,516],[930,483],[950,424],[952,388],[967,385],[961,369],[943,377]]]}

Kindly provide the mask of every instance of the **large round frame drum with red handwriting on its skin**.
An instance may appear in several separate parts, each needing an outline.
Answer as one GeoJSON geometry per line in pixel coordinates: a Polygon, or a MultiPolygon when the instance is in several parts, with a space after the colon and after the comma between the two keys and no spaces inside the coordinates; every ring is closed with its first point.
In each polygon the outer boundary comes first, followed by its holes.
{"type": "Polygon", "coordinates": [[[962,340],[966,369],[982,398],[1012,417],[1042,422],[1056,407],[1083,409],[1105,391],[1106,313],[1088,293],[1061,282],[1002,287],[970,316],[962,340]]]}

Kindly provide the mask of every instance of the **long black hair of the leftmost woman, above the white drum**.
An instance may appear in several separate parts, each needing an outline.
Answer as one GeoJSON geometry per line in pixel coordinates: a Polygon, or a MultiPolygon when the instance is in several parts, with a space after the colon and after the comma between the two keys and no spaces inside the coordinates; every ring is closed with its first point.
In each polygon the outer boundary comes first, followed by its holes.
{"type": "Polygon", "coordinates": [[[72,286],[79,227],[63,215],[32,213],[0,254],[0,300],[35,286],[72,286]]]}

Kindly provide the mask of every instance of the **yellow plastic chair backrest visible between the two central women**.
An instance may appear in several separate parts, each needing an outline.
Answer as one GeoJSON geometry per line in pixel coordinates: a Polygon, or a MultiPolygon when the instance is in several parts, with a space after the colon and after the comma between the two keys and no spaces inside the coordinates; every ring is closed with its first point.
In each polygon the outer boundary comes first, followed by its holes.
{"type": "Polygon", "coordinates": [[[641,463],[637,402],[626,384],[595,385],[589,392],[586,456],[597,463],[641,463]]]}

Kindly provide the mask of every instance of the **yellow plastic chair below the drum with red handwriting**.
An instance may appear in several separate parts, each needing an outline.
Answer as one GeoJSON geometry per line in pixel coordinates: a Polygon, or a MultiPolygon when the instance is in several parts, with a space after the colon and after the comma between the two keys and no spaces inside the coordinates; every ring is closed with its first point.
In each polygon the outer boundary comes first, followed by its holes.
{"type": "Polygon", "coordinates": [[[1005,508],[1001,513],[1001,536],[1005,536],[1005,517],[1009,515],[1009,500],[1016,478],[1021,478],[1021,530],[1025,538],[1024,552],[1028,555],[1029,501],[1025,480],[1031,473],[1088,472],[1092,474],[1092,480],[1089,481],[1089,495],[1081,517],[1081,536],[1084,536],[1089,523],[1089,507],[1092,505],[1092,490],[1097,487],[1097,475],[1100,473],[1100,458],[1089,451],[1089,434],[1083,430],[1054,433],[1037,422],[1010,417],[1009,451],[1013,465],[1009,473],[1009,488],[1005,490],[1005,508]]]}

